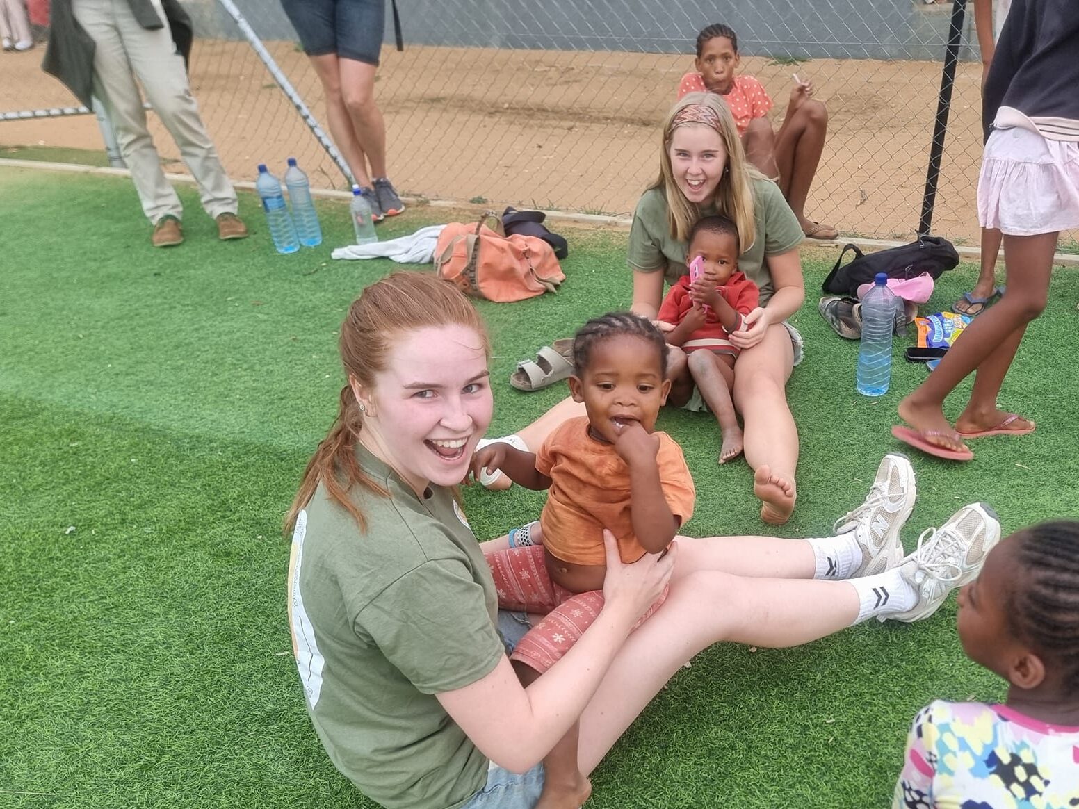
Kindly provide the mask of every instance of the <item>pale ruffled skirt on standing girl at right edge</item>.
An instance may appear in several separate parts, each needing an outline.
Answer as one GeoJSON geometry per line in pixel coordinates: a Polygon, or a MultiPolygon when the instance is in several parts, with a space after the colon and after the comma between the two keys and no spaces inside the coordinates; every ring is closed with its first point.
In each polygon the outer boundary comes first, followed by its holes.
{"type": "Polygon", "coordinates": [[[994,129],[978,178],[978,220],[1011,236],[1079,228],[1079,143],[994,129]]]}

